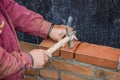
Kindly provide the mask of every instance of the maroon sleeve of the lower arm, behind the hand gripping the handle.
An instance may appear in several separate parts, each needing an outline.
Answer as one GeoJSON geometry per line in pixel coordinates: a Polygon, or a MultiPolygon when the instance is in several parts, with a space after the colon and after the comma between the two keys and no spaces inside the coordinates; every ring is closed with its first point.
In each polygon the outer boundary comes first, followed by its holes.
{"type": "Polygon", "coordinates": [[[16,73],[23,67],[32,67],[32,60],[28,54],[24,52],[9,54],[0,47],[0,79],[16,73]]]}

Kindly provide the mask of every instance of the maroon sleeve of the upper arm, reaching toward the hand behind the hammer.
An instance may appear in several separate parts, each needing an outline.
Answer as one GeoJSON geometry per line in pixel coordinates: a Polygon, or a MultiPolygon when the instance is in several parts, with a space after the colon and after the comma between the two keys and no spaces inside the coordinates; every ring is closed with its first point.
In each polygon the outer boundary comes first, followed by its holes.
{"type": "Polygon", "coordinates": [[[14,0],[2,1],[16,29],[42,38],[47,37],[51,26],[50,22],[14,0]]]}

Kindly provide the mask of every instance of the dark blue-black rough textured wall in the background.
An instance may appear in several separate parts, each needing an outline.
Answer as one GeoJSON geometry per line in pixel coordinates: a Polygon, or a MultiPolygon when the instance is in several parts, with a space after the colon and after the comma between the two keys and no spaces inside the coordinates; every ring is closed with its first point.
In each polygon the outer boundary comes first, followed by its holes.
{"type": "MultiPolygon", "coordinates": [[[[120,47],[120,0],[16,0],[56,24],[71,25],[80,41],[120,47]]],[[[38,37],[18,32],[20,40],[39,43],[38,37]],[[27,37],[27,38],[26,38],[27,37]]]]}

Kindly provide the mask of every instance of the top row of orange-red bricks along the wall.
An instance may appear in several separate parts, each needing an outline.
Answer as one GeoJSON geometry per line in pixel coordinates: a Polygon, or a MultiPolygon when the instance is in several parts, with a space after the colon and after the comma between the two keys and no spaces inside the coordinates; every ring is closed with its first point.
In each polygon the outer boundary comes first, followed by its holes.
{"type": "MultiPolygon", "coordinates": [[[[55,41],[45,39],[41,42],[41,49],[48,49],[55,45],[55,41]]],[[[106,68],[117,68],[120,49],[108,46],[90,44],[86,42],[74,41],[73,48],[65,46],[56,51],[54,56],[59,56],[66,60],[75,59],[79,62],[102,66],[106,68]],[[55,55],[56,54],[56,55],[55,55]]]]}

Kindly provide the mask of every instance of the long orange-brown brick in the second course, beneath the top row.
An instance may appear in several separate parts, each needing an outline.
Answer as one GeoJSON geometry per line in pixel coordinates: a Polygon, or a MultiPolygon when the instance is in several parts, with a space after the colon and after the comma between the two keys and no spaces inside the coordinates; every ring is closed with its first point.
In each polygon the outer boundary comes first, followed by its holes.
{"type": "Polygon", "coordinates": [[[60,60],[54,60],[53,65],[56,69],[93,76],[93,68],[90,67],[85,67],[77,64],[68,64],[60,60]]]}

